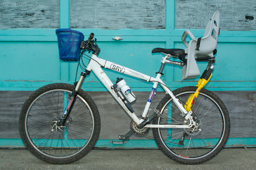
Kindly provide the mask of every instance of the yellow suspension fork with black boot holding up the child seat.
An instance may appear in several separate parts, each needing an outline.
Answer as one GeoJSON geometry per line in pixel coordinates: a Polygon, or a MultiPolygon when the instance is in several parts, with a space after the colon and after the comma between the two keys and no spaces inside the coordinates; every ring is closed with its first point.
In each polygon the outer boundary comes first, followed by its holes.
{"type": "MultiPolygon", "coordinates": [[[[197,82],[197,90],[194,94],[191,94],[190,97],[187,99],[187,102],[184,106],[185,110],[187,110],[187,112],[189,112],[191,110],[191,106],[193,105],[195,99],[197,98],[199,92],[201,91],[201,89],[203,88],[203,86],[205,86],[208,81],[210,80],[210,78],[213,75],[213,62],[209,62],[208,66],[206,67],[206,69],[204,70],[202,76],[199,78],[199,81],[197,82]]],[[[192,110],[191,110],[192,111],[192,110]]]]}

